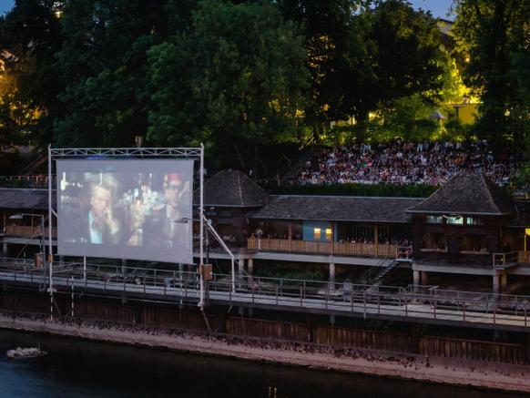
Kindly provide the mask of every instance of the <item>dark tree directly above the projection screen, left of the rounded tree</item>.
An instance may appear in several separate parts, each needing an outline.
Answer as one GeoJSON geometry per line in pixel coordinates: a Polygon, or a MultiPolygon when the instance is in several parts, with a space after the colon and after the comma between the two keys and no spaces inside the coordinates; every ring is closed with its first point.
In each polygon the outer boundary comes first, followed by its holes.
{"type": "Polygon", "coordinates": [[[130,146],[148,129],[147,53],[186,28],[191,1],[71,0],[56,54],[65,89],[56,120],[61,145],[130,146]]]}

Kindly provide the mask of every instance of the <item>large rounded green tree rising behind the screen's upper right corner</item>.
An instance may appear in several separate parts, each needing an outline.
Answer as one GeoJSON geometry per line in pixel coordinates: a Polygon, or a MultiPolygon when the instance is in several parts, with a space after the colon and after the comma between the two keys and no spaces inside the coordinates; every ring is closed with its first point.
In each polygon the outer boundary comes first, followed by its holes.
{"type": "Polygon", "coordinates": [[[302,38],[272,3],[200,2],[189,32],[148,58],[148,138],[158,144],[200,138],[225,166],[256,168],[260,145],[289,138],[301,118],[302,38]]]}

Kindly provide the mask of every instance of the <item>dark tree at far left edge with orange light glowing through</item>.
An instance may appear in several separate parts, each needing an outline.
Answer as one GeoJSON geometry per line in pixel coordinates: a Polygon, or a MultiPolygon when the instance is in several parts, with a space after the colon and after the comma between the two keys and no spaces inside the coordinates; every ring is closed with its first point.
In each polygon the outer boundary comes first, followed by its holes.
{"type": "Polygon", "coordinates": [[[2,118],[12,119],[12,136],[25,132],[43,144],[50,142],[61,109],[54,58],[62,43],[61,7],[58,1],[17,0],[2,21],[3,54],[9,58],[4,62],[2,118]]]}

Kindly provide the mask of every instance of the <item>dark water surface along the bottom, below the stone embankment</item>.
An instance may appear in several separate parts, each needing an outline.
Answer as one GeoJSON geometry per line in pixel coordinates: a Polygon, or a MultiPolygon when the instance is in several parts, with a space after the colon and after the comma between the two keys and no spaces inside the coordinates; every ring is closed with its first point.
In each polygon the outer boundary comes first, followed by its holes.
{"type": "Polygon", "coordinates": [[[507,398],[427,383],[0,331],[0,397],[507,398]],[[4,352],[40,344],[45,357],[4,352]]]}

